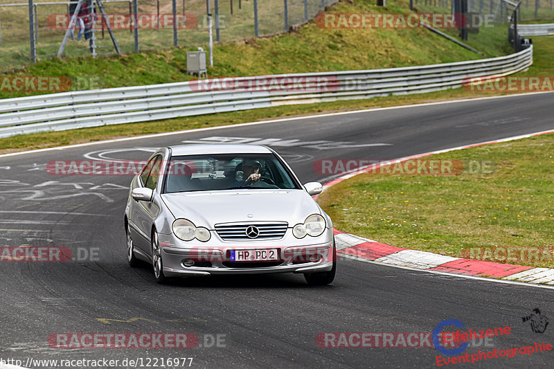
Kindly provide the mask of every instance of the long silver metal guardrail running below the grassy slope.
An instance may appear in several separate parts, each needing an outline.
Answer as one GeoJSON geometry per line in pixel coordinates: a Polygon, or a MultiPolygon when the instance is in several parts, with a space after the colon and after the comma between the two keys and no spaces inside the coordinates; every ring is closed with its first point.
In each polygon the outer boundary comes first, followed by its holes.
{"type": "Polygon", "coordinates": [[[447,64],[260,75],[10,98],[0,100],[0,137],[438,91],[461,87],[469,77],[508,75],[531,64],[532,47],[512,55],[447,64]]]}

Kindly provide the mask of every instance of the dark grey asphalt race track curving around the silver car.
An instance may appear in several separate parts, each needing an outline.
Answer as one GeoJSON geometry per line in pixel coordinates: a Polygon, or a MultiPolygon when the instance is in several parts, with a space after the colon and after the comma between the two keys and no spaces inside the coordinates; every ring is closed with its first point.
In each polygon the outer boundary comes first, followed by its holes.
{"type": "MultiPolygon", "coordinates": [[[[72,252],[66,262],[0,261],[0,358],[23,364],[28,359],[143,358],[146,364],[148,358],[192,357],[190,368],[433,368],[440,355],[435,348],[322,348],[316,336],[431,332],[447,318],[472,330],[511,327],[511,334],[494,337],[486,347],[478,341],[480,346],[467,348],[469,354],[554,343],[554,327],[534,333],[521,319],[535,307],[554,319],[552,289],[355,260],[341,260],[337,278],[326,287],[308,287],[303,276],[292,274],[157,285],[150,267],[131,269],[125,259],[123,211],[131,177],[46,172],[46,163],[53,160],[141,160],[164,145],[229,141],[266,143],[285,156],[303,183],[321,181],[328,176],[314,172],[317,159],[394,159],[554,129],[553,103],[554,93],[541,93],[0,157],[0,245],[63,246],[72,252]],[[64,332],[186,332],[196,334],[199,345],[51,348],[48,336],[64,332]]],[[[379,235],[373,238],[379,240],[379,235]]],[[[552,368],[553,352],[450,366],[552,368]]],[[[116,366],[127,367],[139,366],[116,366]]]]}

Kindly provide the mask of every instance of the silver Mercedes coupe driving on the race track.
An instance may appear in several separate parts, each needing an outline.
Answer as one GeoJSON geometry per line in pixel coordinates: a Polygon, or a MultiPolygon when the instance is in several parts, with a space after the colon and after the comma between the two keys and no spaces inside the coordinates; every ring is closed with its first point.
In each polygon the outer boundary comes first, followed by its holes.
{"type": "Polygon", "coordinates": [[[328,285],[332,222],[283,158],[261,145],[179,145],[154,152],[125,207],[127,261],[174,276],[303,273],[328,285]]]}

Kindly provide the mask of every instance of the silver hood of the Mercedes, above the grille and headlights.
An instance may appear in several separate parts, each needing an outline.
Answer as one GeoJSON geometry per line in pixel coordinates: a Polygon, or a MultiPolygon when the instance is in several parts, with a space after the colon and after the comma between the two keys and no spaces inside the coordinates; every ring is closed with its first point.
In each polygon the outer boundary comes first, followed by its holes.
{"type": "Polygon", "coordinates": [[[176,218],[213,229],[231,222],[303,223],[319,206],[304,190],[220,190],[163,194],[161,198],[176,218]],[[251,214],[251,217],[248,215],[251,214]]]}

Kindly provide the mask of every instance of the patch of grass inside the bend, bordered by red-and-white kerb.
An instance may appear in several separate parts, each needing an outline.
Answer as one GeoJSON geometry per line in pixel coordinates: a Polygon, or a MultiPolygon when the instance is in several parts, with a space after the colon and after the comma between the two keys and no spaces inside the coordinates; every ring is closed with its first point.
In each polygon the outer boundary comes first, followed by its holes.
{"type": "MultiPolygon", "coordinates": [[[[554,135],[548,134],[427,156],[422,160],[463,161],[465,170],[458,175],[377,170],[338,183],[318,201],[335,228],[408,249],[467,257],[463,249],[473,247],[553,246],[553,153],[554,135]],[[492,173],[472,173],[470,161],[492,163],[492,173]]],[[[518,264],[554,267],[552,261],[518,264]]]]}

